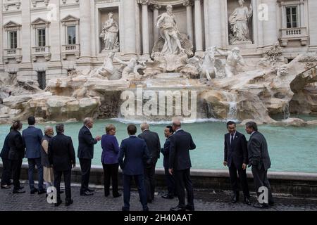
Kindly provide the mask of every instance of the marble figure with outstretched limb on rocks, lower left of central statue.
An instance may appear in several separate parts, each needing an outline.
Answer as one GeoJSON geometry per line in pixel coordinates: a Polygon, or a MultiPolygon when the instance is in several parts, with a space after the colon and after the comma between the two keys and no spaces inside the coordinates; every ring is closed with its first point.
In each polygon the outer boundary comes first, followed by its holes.
{"type": "Polygon", "coordinates": [[[123,79],[123,80],[130,79],[131,75],[132,75],[132,78],[139,78],[141,75],[139,75],[138,70],[139,69],[144,70],[145,68],[147,68],[147,66],[145,65],[145,62],[141,62],[141,61],[137,60],[136,58],[131,58],[130,61],[128,61],[128,62],[125,62],[125,61],[120,60],[118,58],[115,58],[115,60],[118,63],[125,65],[125,68],[123,69],[122,77],[121,77],[121,79],[123,79]],[[133,77],[133,75],[134,75],[134,77],[133,77]]]}

